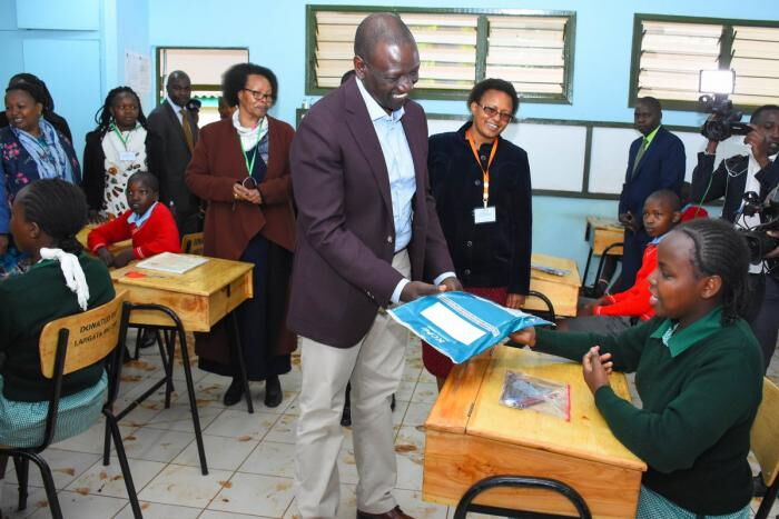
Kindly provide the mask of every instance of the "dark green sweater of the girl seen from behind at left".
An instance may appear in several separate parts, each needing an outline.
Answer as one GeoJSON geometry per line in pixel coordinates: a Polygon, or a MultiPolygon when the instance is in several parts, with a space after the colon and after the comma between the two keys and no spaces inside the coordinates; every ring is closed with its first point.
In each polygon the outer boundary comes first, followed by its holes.
{"type": "MultiPolygon", "coordinates": [[[[114,299],[106,266],[83,252],[79,261],[89,286],[88,308],[114,299]]],[[[40,371],[38,338],[49,321],[80,311],[76,293],[65,285],[59,261],[40,261],[28,272],[0,282],[0,352],[6,355],[0,373],[8,400],[37,402],[50,398],[51,381],[40,371]]],[[[62,396],[93,386],[101,375],[102,362],[97,362],[65,376],[62,396]]]]}

